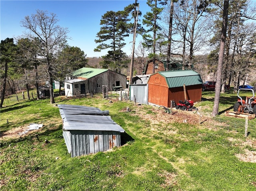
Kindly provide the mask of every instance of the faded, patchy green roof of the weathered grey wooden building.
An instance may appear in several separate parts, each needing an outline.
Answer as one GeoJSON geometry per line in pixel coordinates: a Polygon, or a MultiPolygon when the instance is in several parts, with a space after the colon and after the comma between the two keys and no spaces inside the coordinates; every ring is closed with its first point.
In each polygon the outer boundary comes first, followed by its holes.
{"type": "Polygon", "coordinates": [[[106,71],[108,71],[108,69],[83,67],[83,68],[80,68],[80,69],[72,72],[72,76],[89,79],[91,77],[94,77],[94,76],[99,75],[100,73],[103,73],[106,71]]]}

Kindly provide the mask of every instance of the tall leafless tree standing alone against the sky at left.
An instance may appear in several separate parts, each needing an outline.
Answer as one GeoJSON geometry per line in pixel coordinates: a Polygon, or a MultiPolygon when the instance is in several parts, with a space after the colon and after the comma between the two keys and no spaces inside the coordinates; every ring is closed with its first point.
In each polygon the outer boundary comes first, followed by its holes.
{"type": "Polygon", "coordinates": [[[54,69],[54,56],[67,37],[68,28],[62,28],[58,24],[56,14],[48,11],[37,10],[36,14],[26,16],[21,24],[28,31],[25,35],[34,39],[38,37],[43,44],[43,58],[45,59],[48,72],[48,81],[50,88],[50,103],[54,103],[53,93],[53,69],[54,69]]]}

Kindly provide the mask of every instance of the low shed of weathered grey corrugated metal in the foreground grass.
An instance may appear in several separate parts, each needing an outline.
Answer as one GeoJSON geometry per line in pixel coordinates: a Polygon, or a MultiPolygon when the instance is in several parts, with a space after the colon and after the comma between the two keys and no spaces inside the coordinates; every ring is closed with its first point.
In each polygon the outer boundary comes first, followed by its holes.
{"type": "Polygon", "coordinates": [[[104,152],[121,146],[124,129],[108,111],[95,107],[58,104],[63,137],[72,157],[104,152]]]}

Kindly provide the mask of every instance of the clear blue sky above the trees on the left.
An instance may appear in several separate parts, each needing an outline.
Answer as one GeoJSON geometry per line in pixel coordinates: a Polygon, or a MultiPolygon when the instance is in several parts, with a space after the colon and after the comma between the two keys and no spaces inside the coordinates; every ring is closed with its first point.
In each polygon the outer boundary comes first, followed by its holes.
{"type": "MultiPolygon", "coordinates": [[[[25,28],[20,21],[25,16],[35,14],[36,10],[48,10],[55,13],[58,25],[67,27],[70,31],[68,40],[70,46],[79,47],[87,57],[106,55],[107,51],[94,52],[98,44],[94,42],[96,33],[100,31],[100,19],[107,11],[119,11],[134,3],[135,0],[0,0],[0,38],[1,40],[16,38],[22,35],[25,28]]],[[[149,11],[146,0],[138,0],[142,15],[149,11]]],[[[142,19],[142,18],[141,18],[142,19]]],[[[132,35],[126,39],[123,49],[131,55],[132,35]]],[[[136,39],[139,42],[139,39],[136,39]]]]}

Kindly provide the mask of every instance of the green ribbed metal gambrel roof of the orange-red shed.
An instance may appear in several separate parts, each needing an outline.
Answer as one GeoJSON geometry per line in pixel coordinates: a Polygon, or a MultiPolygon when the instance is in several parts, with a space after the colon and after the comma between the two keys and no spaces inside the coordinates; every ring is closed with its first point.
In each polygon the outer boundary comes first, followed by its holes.
{"type": "Polygon", "coordinates": [[[202,84],[200,74],[193,70],[162,71],[158,72],[166,79],[169,88],[202,84]]]}

